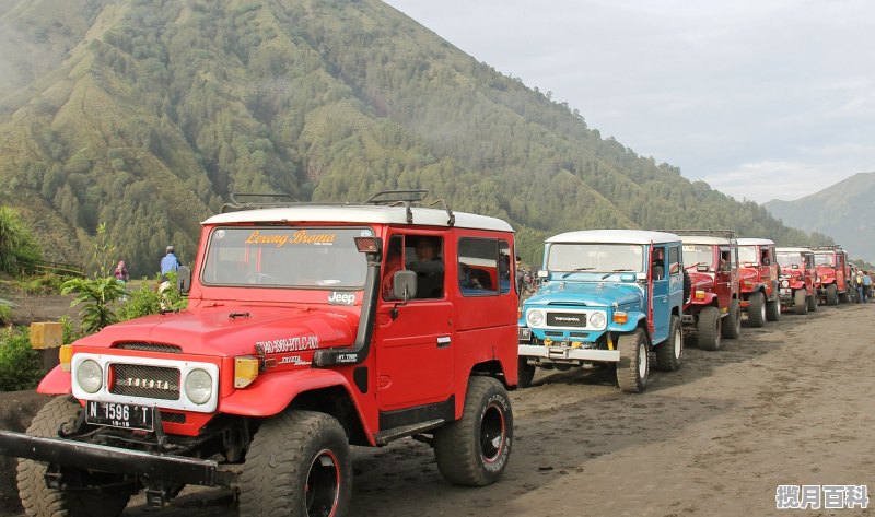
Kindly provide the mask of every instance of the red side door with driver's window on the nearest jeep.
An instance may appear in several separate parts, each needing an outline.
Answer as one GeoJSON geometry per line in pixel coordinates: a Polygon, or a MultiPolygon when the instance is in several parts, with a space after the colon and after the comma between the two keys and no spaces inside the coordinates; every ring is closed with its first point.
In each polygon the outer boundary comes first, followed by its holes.
{"type": "Polygon", "coordinates": [[[410,424],[418,421],[417,415],[429,412],[424,408],[420,408],[419,412],[411,408],[447,401],[453,387],[455,338],[445,269],[441,271],[440,279],[432,274],[440,266],[446,266],[450,255],[445,245],[452,245],[450,239],[445,239],[441,233],[410,232],[396,233],[386,242],[389,243],[387,250],[393,247],[404,250],[402,269],[418,270],[418,292],[413,299],[407,302],[392,299],[385,292],[380,297],[373,342],[376,349],[376,400],[382,428],[386,427],[384,412],[409,410],[409,416],[401,415],[389,426],[410,424]],[[434,259],[423,261],[422,256],[417,256],[417,247],[425,238],[436,239],[439,250],[434,259]],[[420,291],[421,286],[427,289],[420,291]]]}

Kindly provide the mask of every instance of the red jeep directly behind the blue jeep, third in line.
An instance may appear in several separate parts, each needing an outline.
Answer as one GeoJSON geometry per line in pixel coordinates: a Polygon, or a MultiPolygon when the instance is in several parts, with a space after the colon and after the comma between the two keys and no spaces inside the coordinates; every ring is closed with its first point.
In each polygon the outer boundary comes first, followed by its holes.
{"type": "Polygon", "coordinates": [[[720,349],[722,338],[742,329],[738,247],[730,231],[672,230],[680,235],[690,296],[684,305],[684,330],[695,332],[702,350],[720,349]]]}

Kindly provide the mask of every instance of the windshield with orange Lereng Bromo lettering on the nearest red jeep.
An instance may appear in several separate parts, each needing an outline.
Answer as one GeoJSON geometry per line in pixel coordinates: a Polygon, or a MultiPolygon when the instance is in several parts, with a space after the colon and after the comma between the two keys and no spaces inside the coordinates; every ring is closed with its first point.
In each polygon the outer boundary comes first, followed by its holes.
{"type": "Polygon", "coordinates": [[[366,258],[353,237],[365,227],[223,226],[210,232],[205,285],[336,289],[364,286],[366,258]]]}

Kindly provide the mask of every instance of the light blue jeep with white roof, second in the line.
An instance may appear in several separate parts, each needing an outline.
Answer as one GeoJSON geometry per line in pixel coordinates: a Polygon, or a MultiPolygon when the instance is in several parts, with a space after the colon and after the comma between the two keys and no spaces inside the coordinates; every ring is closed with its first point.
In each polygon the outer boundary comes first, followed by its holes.
{"type": "Polygon", "coordinates": [[[655,367],[680,367],[684,268],[680,237],[639,230],[588,230],[545,243],[541,286],[520,319],[520,386],[535,368],[616,363],[627,392],[655,367]]]}

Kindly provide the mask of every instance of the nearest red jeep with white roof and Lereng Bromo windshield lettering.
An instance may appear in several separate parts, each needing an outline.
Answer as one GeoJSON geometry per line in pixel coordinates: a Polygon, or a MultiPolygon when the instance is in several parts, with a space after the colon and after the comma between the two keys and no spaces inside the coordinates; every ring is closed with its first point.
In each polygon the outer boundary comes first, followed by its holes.
{"type": "Polygon", "coordinates": [[[161,506],[199,484],[238,490],[242,515],[341,516],[349,445],[406,436],[452,483],[497,481],[517,384],[514,234],[425,196],[232,197],[180,269],[188,308],[65,346],[38,388],[58,397],[27,434],[0,433],[0,453],[25,458],[28,515],[114,516],[140,490],[161,506]]]}

